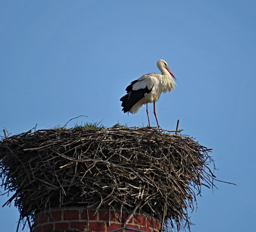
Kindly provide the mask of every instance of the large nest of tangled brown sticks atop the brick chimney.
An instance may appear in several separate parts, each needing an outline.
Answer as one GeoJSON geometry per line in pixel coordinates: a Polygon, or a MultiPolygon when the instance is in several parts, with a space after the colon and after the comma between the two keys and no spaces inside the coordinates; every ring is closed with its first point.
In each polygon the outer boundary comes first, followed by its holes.
{"type": "Polygon", "coordinates": [[[213,186],[209,151],[147,128],[37,130],[0,141],[0,176],[21,218],[82,205],[153,215],[180,230],[190,228],[201,186],[213,186]]]}

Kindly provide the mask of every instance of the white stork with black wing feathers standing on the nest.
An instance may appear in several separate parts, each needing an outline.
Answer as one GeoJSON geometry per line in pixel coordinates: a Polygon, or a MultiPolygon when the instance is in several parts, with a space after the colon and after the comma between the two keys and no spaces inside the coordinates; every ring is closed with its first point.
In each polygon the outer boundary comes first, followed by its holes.
{"type": "MultiPolygon", "coordinates": [[[[155,104],[162,92],[171,92],[174,89],[175,82],[173,78],[175,80],[177,79],[163,59],[159,59],[156,65],[162,74],[148,73],[137,80],[133,80],[133,82],[131,82],[130,85],[128,85],[126,88],[127,94],[121,97],[120,101],[122,102],[122,111],[124,113],[130,112],[132,114],[135,114],[140,109],[140,107],[142,107],[142,105],[153,102],[157,127],[160,128],[156,116],[155,104]],[[173,76],[173,78],[171,76],[173,76]]],[[[150,127],[148,108],[147,119],[150,127]]]]}

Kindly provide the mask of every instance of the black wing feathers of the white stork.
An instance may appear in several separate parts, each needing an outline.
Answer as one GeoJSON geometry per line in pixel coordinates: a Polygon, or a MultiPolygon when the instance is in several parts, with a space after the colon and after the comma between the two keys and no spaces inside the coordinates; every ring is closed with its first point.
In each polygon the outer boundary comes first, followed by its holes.
{"type": "Polygon", "coordinates": [[[140,99],[145,97],[145,93],[151,92],[146,86],[144,89],[140,90],[133,90],[133,85],[137,82],[138,80],[134,80],[130,85],[127,86],[126,91],[127,94],[121,97],[120,101],[122,101],[121,106],[123,107],[122,111],[124,113],[130,111],[130,109],[138,102],[140,99]]]}

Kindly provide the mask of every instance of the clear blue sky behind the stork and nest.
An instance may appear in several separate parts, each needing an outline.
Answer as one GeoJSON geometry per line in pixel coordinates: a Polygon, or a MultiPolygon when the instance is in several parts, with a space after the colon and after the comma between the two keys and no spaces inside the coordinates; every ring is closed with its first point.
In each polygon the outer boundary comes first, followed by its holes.
{"type": "MultiPolygon", "coordinates": [[[[255,22],[254,0],[2,1],[0,130],[52,128],[81,114],[88,119],[69,126],[147,125],[145,107],[123,114],[119,99],[165,59],[178,80],[156,103],[161,127],[179,118],[213,148],[217,177],[237,184],[204,189],[191,231],[253,231],[255,22]]],[[[13,206],[0,208],[1,231],[16,231],[18,219],[13,206]]]]}

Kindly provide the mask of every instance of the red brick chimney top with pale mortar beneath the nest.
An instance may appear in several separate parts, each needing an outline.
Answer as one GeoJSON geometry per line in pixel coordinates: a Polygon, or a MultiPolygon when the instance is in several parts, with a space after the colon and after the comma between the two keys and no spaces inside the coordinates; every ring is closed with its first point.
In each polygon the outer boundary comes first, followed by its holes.
{"type": "Polygon", "coordinates": [[[145,232],[159,232],[160,223],[153,217],[135,214],[127,223],[130,214],[110,213],[108,211],[88,211],[83,207],[65,207],[52,209],[50,212],[38,213],[35,216],[33,232],[105,232],[130,229],[145,232]]]}

